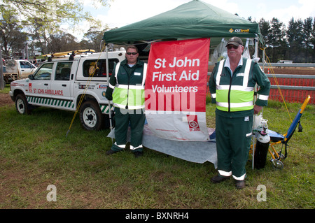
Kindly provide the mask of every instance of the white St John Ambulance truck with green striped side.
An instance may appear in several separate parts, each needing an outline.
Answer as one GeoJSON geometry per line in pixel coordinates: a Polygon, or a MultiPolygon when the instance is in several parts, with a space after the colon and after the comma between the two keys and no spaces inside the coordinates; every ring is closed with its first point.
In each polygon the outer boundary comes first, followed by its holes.
{"type": "MultiPolygon", "coordinates": [[[[115,63],[125,59],[125,50],[108,52],[109,76],[115,63]]],[[[55,58],[44,62],[36,72],[10,83],[10,97],[20,114],[37,106],[78,111],[83,128],[99,130],[109,127],[106,54],[93,53],[55,58]],[[81,102],[80,102],[81,101],[81,102]]]]}

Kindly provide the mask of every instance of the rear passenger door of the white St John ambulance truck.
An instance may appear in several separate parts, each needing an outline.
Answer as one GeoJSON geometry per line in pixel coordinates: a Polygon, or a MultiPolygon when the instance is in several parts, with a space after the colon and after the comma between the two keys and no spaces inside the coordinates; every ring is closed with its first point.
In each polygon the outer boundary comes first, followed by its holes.
{"type": "MultiPolygon", "coordinates": [[[[73,62],[57,62],[51,82],[51,98],[57,101],[55,106],[60,109],[73,110],[71,91],[71,69],[73,62]]],[[[74,72],[72,72],[74,73],[74,72]]]]}

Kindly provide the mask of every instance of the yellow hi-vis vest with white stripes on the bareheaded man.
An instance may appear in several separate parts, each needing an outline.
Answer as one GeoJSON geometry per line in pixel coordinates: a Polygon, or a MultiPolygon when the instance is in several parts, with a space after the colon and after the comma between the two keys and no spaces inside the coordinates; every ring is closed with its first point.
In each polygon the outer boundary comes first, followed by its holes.
{"type": "Polygon", "coordinates": [[[119,68],[120,62],[116,65],[115,71],[116,85],[113,91],[113,106],[125,109],[144,108],[144,84],[146,82],[147,64],[144,64],[142,82],[137,85],[120,85],[117,78],[119,68]]]}

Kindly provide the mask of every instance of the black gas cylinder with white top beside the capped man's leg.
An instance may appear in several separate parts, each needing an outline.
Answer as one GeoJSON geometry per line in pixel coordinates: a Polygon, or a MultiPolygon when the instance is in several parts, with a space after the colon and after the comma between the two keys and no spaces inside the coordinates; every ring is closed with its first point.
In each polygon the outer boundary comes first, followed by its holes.
{"type": "Polygon", "coordinates": [[[266,131],[258,131],[256,138],[254,166],[260,169],[266,165],[270,136],[266,131]]]}

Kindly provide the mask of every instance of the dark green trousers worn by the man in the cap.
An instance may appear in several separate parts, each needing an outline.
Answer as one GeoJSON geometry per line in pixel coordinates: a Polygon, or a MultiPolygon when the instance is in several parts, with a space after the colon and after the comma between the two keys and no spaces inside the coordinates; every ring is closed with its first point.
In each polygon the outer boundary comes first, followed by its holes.
{"type": "Polygon", "coordinates": [[[220,175],[232,175],[236,180],[244,180],[252,129],[252,115],[223,117],[216,114],[216,150],[220,175]]]}

